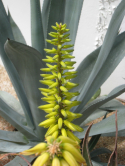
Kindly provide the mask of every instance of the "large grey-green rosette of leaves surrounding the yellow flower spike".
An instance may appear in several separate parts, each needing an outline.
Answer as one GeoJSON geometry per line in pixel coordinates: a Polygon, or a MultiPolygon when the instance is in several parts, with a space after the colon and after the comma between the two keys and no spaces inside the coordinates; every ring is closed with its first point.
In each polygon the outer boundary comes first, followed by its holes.
{"type": "MultiPolygon", "coordinates": [[[[0,55],[20,101],[20,103],[16,101],[16,105],[13,105],[10,102],[14,100],[12,96],[10,98],[6,92],[0,93],[0,115],[18,130],[17,132],[0,131],[0,152],[17,153],[44,141],[46,129],[39,127],[38,124],[45,120],[46,113],[38,109],[38,106],[44,105],[45,101],[41,101],[43,96],[38,88],[46,88],[39,82],[40,68],[46,68],[45,62],[41,61],[46,55],[44,48],[51,48],[51,44],[47,44],[45,39],[51,39],[48,36],[48,32],[52,31],[51,25],[62,22],[70,29],[70,39],[74,44],[82,4],[83,0],[45,0],[41,12],[39,0],[31,0],[32,47],[29,47],[11,15],[6,14],[0,0],[0,55]],[[17,107],[20,112],[16,111],[17,107]]],[[[77,77],[70,80],[79,84],[70,90],[80,93],[73,100],[81,101],[81,104],[70,110],[73,113],[83,114],[81,118],[73,121],[84,129],[80,133],[74,132],[79,139],[84,138],[87,130],[85,125],[88,122],[116,109],[118,110],[118,135],[124,136],[125,107],[114,98],[125,92],[125,85],[116,87],[107,96],[93,98],[93,96],[97,97],[95,93],[98,93],[101,85],[125,55],[125,33],[117,35],[124,14],[125,1],[122,0],[111,19],[103,45],[82,60],[76,69],[77,77]]],[[[91,149],[95,146],[99,135],[115,135],[114,115],[93,125],[90,131],[90,136],[93,136],[89,144],[91,149]],[[96,135],[98,137],[95,138],[96,135]]],[[[30,157],[27,159],[33,160],[30,157]]],[[[20,163],[26,165],[16,157],[7,165],[17,166],[20,163]]]]}

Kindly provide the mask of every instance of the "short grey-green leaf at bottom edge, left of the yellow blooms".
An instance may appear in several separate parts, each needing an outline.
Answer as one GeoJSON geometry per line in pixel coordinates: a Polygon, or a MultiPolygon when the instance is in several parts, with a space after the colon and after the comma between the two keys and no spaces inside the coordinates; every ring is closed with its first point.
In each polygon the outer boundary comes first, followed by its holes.
{"type": "MultiPolygon", "coordinates": [[[[32,160],[35,158],[34,156],[23,156],[23,157],[29,162],[32,162],[32,160]]],[[[17,156],[9,163],[7,163],[5,166],[27,166],[27,163],[21,157],[17,156]]]]}

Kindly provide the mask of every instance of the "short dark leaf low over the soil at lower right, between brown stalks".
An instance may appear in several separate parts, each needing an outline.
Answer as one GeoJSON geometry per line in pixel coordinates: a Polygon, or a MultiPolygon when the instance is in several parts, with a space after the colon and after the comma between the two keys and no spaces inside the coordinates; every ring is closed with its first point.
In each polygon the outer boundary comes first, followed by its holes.
{"type": "Polygon", "coordinates": [[[91,158],[93,158],[93,157],[96,157],[96,156],[104,154],[104,153],[111,154],[112,152],[107,148],[98,148],[98,149],[93,150],[90,153],[90,156],[91,156],[91,158]]]}

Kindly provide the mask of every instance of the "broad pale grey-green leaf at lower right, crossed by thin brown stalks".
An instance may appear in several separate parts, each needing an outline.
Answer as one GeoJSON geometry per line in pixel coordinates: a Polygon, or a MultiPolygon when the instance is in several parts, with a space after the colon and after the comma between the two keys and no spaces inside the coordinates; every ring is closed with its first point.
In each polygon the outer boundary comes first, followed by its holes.
{"type": "MultiPolygon", "coordinates": [[[[125,127],[125,109],[119,109],[118,111],[118,128],[119,131],[123,131],[124,127],[125,127]]],[[[85,132],[87,130],[87,127],[84,128],[84,131],[81,133],[75,132],[74,134],[78,137],[78,138],[84,138],[85,136],[85,132]]],[[[89,136],[93,136],[93,135],[97,135],[97,134],[107,134],[107,133],[112,133],[115,132],[115,115],[112,115],[104,120],[102,120],[99,123],[96,123],[92,126],[91,131],[90,131],[90,135],[89,136]],[[103,129],[103,130],[102,130],[103,129]]]]}

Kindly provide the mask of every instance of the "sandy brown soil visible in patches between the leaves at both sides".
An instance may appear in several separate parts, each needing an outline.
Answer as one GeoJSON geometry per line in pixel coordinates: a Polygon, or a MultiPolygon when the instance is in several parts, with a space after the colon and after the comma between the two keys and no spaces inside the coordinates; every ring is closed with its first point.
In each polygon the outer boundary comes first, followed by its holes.
{"type": "MultiPolygon", "coordinates": [[[[6,70],[1,65],[0,65],[0,91],[6,91],[12,94],[17,99],[17,95],[6,73],[6,70]]],[[[95,120],[94,123],[99,122],[101,119],[102,118],[95,120]]],[[[0,116],[0,130],[14,131],[14,127],[0,116]]],[[[101,137],[95,148],[105,147],[113,151],[114,143],[115,143],[114,137],[101,137]]],[[[108,154],[100,155],[99,157],[101,161],[104,163],[106,163],[109,159],[108,154]]],[[[3,158],[0,161],[0,166],[4,166],[6,163],[12,160],[12,158],[13,157],[3,158]]],[[[118,164],[125,165],[125,137],[118,137],[118,164]]]]}

